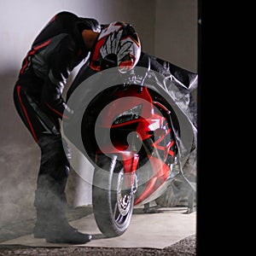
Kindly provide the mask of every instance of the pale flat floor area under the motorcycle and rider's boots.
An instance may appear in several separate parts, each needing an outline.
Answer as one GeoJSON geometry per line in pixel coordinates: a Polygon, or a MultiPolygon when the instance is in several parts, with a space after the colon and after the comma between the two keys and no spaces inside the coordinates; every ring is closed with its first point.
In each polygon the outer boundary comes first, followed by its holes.
{"type": "MultiPolygon", "coordinates": [[[[79,247],[108,248],[157,248],[170,247],[186,237],[195,235],[196,212],[187,214],[186,207],[160,208],[159,213],[143,213],[137,207],[131,218],[131,225],[123,236],[105,238],[98,230],[93,213],[71,221],[73,227],[93,235],[93,239],[79,247]]],[[[69,244],[47,243],[44,239],[35,239],[32,234],[2,241],[0,246],[20,245],[29,247],[72,247],[69,244]]],[[[77,247],[77,246],[76,246],[77,247]]]]}

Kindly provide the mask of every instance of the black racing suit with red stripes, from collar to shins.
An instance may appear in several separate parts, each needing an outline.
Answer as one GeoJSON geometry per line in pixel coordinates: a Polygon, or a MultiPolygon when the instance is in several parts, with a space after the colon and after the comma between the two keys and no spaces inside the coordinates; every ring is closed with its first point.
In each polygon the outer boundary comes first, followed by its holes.
{"type": "Polygon", "coordinates": [[[59,119],[68,119],[65,109],[68,114],[73,110],[61,94],[73,68],[89,55],[84,29],[100,32],[101,26],[95,19],[69,12],[55,15],[32,43],[15,84],[15,108],[41,148],[35,206],[47,211],[49,202],[61,212],[65,206],[69,156],[62,145],[59,119]]]}

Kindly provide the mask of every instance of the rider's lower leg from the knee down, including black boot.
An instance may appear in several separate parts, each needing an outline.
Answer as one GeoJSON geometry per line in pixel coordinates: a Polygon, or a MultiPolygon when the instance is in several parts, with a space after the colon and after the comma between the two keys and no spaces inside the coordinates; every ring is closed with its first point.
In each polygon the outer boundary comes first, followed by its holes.
{"type": "Polygon", "coordinates": [[[45,237],[49,242],[90,241],[90,235],[73,229],[66,218],[65,188],[69,172],[67,143],[62,143],[61,136],[44,135],[39,137],[38,144],[42,158],[34,203],[38,212],[34,236],[45,237]]]}

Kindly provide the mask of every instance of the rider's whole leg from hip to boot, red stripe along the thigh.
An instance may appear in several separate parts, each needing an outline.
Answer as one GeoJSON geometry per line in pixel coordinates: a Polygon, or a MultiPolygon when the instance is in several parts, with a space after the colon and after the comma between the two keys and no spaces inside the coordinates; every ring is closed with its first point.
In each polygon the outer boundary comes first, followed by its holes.
{"type": "Polygon", "coordinates": [[[58,119],[47,116],[39,108],[39,104],[19,84],[15,86],[14,100],[20,118],[41,148],[34,201],[37,210],[34,236],[45,238],[49,242],[90,241],[90,235],[79,233],[67,222],[65,188],[70,153],[67,143],[62,143],[58,119]]]}

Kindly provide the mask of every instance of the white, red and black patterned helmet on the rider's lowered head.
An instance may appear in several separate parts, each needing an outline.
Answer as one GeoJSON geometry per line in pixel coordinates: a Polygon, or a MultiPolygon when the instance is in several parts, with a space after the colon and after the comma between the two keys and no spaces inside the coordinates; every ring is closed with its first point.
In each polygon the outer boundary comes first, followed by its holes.
{"type": "Polygon", "coordinates": [[[140,55],[140,39],[131,24],[114,21],[99,34],[90,67],[97,71],[119,67],[125,73],[137,65],[140,55]]]}

